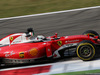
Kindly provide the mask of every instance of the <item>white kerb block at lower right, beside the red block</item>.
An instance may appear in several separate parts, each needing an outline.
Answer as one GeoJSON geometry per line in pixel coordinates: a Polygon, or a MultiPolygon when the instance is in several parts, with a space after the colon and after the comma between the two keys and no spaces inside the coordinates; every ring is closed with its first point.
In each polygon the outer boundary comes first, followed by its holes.
{"type": "Polygon", "coordinates": [[[47,73],[40,73],[34,75],[51,75],[67,72],[78,72],[78,71],[87,71],[87,70],[96,70],[100,69],[100,59],[93,61],[82,61],[76,60],[77,62],[67,63],[58,63],[52,64],[51,70],[47,73]]]}

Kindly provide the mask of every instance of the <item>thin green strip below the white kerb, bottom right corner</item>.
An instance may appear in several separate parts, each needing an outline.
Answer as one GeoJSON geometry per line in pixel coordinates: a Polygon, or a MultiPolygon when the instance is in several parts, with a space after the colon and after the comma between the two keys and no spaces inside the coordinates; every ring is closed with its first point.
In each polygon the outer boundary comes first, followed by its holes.
{"type": "Polygon", "coordinates": [[[53,75],[100,75],[100,70],[69,72],[69,73],[53,74],[53,75]]]}

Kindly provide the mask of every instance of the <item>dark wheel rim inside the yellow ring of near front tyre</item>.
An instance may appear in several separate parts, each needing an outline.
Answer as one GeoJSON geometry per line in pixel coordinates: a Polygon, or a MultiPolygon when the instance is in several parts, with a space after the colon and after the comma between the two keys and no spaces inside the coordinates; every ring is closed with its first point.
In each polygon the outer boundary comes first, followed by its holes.
{"type": "Polygon", "coordinates": [[[80,48],[80,54],[82,57],[89,57],[92,54],[92,48],[90,46],[82,46],[80,48]]]}

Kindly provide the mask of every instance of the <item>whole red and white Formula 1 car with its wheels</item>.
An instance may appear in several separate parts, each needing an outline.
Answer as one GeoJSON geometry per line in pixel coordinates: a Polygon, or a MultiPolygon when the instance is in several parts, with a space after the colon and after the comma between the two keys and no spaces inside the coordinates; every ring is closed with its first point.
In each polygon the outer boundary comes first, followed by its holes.
{"type": "Polygon", "coordinates": [[[77,54],[82,60],[91,60],[99,51],[99,34],[88,30],[82,35],[50,37],[28,33],[11,34],[0,40],[1,63],[30,63],[41,58],[60,58],[77,54]]]}

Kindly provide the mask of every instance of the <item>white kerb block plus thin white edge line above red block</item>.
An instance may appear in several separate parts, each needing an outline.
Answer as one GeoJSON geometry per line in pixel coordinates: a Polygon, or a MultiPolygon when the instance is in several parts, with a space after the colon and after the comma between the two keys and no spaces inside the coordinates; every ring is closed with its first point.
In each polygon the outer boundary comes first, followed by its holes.
{"type": "Polygon", "coordinates": [[[24,67],[1,69],[0,71],[9,71],[9,70],[17,70],[17,69],[25,69],[25,68],[51,65],[52,67],[49,72],[33,74],[33,75],[51,75],[51,74],[65,73],[65,72],[76,72],[76,71],[100,69],[99,63],[100,63],[100,59],[93,60],[93,61],[71,60],[71,61],[49,63],[49,64],[43,64],[43,65],[31,65],[31,66],[24,66],[24,67]]]}

